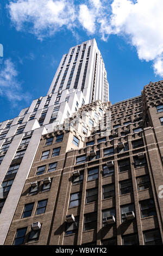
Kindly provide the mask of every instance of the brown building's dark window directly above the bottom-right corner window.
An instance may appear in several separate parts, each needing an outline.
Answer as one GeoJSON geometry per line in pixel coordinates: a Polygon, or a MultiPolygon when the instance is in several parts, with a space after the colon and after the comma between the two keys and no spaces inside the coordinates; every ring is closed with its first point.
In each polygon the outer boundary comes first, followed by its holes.
{"type": "Polygon", "coordinates": [[[141,217],[156,215],[155,205],[153,199],[143,200],[140,203],[141,217]]]}

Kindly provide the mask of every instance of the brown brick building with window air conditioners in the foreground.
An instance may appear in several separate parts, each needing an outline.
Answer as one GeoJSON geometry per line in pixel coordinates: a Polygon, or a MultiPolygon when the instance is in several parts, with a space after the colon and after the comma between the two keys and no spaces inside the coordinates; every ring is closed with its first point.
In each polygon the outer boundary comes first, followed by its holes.
{"type": "Polygon", "coordinates": [[[4,244],[161,245],[162,87],[95,99],[44,133],[4,244]]]}

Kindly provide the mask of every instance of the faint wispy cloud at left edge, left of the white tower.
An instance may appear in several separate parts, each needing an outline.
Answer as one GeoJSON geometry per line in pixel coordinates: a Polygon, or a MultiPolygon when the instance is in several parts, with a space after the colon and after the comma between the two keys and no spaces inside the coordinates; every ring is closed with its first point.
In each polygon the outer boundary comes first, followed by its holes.
{"type": "Polygon", "coordinates": [[[23,94],[21,92],[21,83],[17,80],[18,72],[11,59],[5,60],[4,65],[1,65],[0,68],[0,94],[12,101],[14,106],[16,106],[17,101],[28,101],[30,96],[28,93],[23,94]]]}

